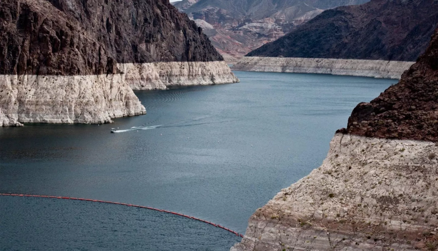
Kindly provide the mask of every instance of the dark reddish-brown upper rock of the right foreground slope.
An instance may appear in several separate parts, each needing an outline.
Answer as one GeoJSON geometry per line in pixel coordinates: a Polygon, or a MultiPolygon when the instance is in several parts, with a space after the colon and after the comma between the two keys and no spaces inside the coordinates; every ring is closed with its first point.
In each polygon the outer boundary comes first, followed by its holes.
{"type": "Polygon", "coordinates": [[[343,132],[438,142],[438,28],[400,82],[370,103],[357,105],[343,132]]]}

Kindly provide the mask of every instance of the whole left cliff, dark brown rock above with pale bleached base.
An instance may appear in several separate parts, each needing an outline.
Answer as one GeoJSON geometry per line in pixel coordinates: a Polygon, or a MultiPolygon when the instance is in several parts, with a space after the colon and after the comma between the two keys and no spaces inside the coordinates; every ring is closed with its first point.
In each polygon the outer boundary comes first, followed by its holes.
{"type": "MultiPolygon", "coordinates": [[[[167,0],[1,1],[0,48],[2,125],[144,114],[130,87],[143,79],[125,73],[125,64],[196,62],[210,70],[203,72],[210,81],[191,84],[238,81],[202,30],[167,0]]],[[[145,78],[157,74],[145,70],[145,78]]]]}

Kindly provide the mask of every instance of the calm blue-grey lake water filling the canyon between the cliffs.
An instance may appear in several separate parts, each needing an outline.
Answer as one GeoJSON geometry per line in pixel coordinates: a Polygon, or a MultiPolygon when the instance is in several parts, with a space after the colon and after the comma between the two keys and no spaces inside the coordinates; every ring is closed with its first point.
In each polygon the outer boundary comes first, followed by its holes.
{"type": "MultiPolygon", "coordinates": [[[[244,234],[258,207],[321,164],[357,103],[397,82],[235,73],[239,84],[138,91],[148,114],[113,124],[0,128],[0,192],[152,206],[244,234]],[[142,124],[152,127],[109,133],[142,124]]],[[[239,241],[147,209],[6,196],[0,203],[1,250],[226,251],[239,241]]]]}

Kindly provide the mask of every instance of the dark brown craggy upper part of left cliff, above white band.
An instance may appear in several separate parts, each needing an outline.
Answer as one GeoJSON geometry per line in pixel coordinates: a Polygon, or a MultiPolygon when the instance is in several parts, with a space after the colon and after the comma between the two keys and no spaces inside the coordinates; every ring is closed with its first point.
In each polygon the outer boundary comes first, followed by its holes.
{"type": "Polygon", "coordinates": [[[4,0],[0,74],[115,73],[117,63],[218,61],[167,0],[4,0]]]}

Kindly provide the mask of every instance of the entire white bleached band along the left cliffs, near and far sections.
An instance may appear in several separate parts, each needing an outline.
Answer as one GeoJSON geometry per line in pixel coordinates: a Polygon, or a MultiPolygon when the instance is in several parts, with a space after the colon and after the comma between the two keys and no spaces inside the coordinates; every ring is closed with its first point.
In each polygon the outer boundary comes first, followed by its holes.
{"type": "Polygon", "coordinates": [[[224,61],[117,64],[117,72],[0,75],[0,125],[109,123],[146,113],[133,90],[239,82],[224,61]]]}

